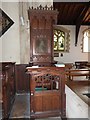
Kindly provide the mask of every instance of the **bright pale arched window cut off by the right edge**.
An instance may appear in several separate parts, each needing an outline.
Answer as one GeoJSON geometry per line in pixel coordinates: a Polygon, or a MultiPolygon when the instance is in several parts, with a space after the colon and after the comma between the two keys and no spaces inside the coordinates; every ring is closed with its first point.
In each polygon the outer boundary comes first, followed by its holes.
{"type": "Polygon", "coordinates": [[[90,52],[90,28],[83,31],[82,51],[90,52]]]}

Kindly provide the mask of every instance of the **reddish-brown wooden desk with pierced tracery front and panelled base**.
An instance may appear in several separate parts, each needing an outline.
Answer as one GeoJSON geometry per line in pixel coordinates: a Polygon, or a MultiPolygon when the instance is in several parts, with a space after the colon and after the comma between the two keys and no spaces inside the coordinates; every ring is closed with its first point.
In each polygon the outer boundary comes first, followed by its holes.
{"type": "Polygon", "coordinates": [[[64,68],[27,68],[30,78],[31,118],[65,116],[64,68]]]}

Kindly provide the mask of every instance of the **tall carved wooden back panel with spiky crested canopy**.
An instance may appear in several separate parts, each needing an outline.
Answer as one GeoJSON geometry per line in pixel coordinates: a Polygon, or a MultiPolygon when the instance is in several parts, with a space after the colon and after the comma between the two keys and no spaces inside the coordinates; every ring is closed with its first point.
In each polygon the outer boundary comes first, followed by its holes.
{"type": "Polygon", "coordinates": [[[52,7],[29,8],[30,62],[53,61],[53,24],[57,22],[57,11],[52,7]]]}

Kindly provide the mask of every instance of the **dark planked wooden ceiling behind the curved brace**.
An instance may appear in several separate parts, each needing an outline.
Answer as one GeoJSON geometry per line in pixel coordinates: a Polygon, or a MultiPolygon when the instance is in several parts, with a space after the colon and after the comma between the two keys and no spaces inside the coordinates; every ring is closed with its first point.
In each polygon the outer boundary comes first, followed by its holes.
{"type": "MultiPolygon", "coordinates": [[[[90,2],[54,2],[54,9],[59,11],[59,25],[76,25],[78,17],[84,8],[90,6],[90,2]]],[[[87,10],[86,17],[82,21],[82,25],[90,24],[90,8],[87,10]]]]}

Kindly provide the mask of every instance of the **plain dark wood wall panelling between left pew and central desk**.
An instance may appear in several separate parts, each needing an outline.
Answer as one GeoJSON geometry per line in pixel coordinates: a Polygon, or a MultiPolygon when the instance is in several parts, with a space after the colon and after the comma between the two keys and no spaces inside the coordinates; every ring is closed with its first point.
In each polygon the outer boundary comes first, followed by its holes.
{"type": "Polygon", "coordinates": [[[29,91],[29,76],[25,73],[27,64],[18,64],[16,72],[16,92],[27,93],[29,91]]]}

